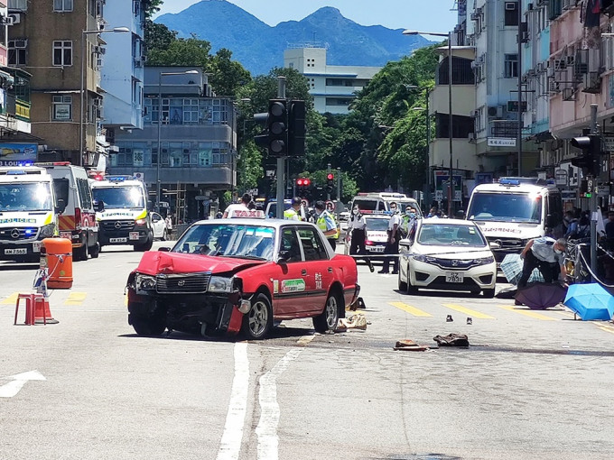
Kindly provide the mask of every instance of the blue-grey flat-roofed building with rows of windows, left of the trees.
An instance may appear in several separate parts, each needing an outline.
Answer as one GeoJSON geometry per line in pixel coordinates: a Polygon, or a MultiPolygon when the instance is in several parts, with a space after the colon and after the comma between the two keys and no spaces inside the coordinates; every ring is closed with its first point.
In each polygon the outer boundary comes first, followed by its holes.
{"type": "Polygon", "coordinates": [[[153,203],[159,183],[161,207],[184,222],[209,216],[213,192],[237,182],[237,110],[200,68],[145,68],[144,127],[116,130],[114,143],[108,172],[138,173],[153,203]]]}

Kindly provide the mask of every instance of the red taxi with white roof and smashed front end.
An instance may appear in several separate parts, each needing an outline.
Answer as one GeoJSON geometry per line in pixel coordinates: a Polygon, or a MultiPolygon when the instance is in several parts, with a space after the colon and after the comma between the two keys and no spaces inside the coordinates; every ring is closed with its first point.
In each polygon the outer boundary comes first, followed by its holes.
{"type": "Polygon", "coordinates": [[[274,322],[302,317],[317,332],[334,330],[358,299],[354,259],[335,254],[316,225],[237,212],[191,225],[170,250],[144,253],[127,281],[138,335],[260,339],[274,322]]]}

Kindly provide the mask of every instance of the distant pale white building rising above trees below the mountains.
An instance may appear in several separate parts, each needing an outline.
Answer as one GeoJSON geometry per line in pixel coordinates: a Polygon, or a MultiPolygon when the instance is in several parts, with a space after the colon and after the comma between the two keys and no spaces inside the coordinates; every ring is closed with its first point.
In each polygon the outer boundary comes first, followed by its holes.
{"type": "Polygon", "coordinates": [[[313,44],[292,45],[285,50],[284,67],[296,69],[307,78],[314,109],[321,114],[348,114],[356,92],[381,70],[327,65],[326,48],[313,44]]]}

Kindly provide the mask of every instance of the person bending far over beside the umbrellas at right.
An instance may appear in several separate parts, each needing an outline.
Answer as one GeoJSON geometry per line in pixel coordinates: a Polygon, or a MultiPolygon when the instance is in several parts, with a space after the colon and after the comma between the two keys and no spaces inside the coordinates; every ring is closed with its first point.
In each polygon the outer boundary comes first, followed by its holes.
{"type": "Polygon", "coordinates": [[[567,270],[565,269],[564,253],[567,241],[564,238],[555,240],[549,236],[542,236],[529,240],[525,249],[520,253],[520,258],[525,262],[522,267],[522,276],[518,281],[518,289],[526,286],[531,273],[539,269],[545,282],[557,281],[559,272],[561,281],[565,281],[567,270]]]}

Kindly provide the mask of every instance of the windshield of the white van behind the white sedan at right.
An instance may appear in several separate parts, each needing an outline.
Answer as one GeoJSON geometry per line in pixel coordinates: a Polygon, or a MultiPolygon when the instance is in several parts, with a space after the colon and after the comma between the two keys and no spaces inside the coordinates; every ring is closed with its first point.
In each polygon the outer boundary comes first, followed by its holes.
{"type": "Polygon", "coordinates": [[[470,220],[539,224],[542,197],[529,193],[476,193],[467,212],[470,220]]]}

